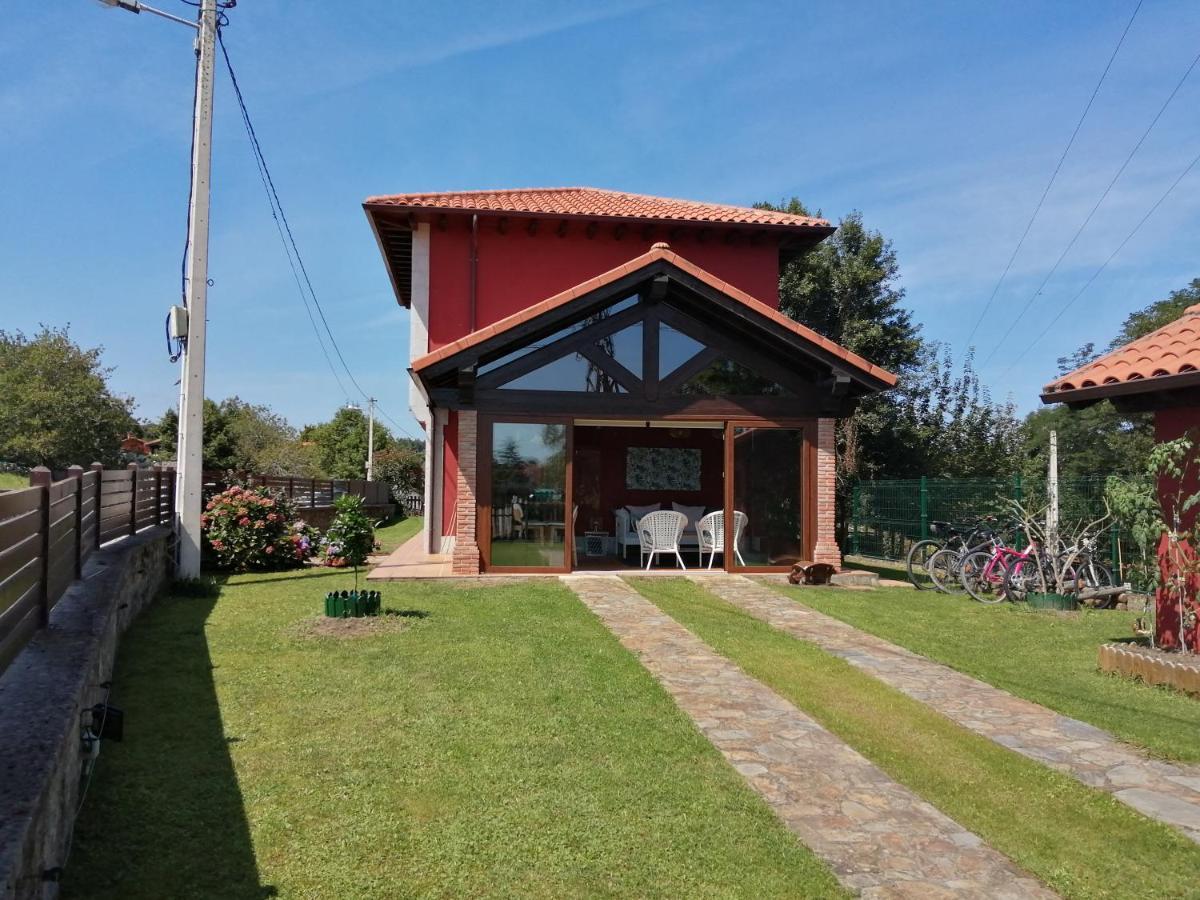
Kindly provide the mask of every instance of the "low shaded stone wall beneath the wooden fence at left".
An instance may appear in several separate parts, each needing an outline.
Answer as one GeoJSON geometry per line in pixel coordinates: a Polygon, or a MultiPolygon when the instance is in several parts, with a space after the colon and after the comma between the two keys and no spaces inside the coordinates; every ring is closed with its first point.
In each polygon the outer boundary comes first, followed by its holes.
{"type": "Polygon", "coordinates": [[[170,574],[150,528],[84,565],[50,625],[0,676],[0,898],[53,898],[74,826],[83,728],[106,696],[121,634],[170,574]]]}

